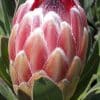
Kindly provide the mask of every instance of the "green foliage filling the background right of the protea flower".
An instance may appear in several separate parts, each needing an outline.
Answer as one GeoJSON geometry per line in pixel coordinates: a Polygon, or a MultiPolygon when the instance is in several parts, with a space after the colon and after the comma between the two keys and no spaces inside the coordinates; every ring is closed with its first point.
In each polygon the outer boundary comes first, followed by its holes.
{"type": "Polygon", "coordinates": [[[99,100],[100,98],[100,2],[99,0],[80,0],[89,25],[89,50],[87,62],[73,99],[99,100]]]}

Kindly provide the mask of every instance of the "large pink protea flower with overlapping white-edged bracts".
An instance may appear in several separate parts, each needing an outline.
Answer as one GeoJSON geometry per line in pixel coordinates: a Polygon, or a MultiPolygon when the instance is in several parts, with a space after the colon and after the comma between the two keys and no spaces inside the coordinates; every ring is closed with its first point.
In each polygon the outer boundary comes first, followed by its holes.
{"type": "Polygon", "coordinates": [[[34,80],[47,77],[70,98],[83,71],[87,21],[78,0],[27,0],[13,19],[9,39],[14,90],[31,95],[34,80]]]}

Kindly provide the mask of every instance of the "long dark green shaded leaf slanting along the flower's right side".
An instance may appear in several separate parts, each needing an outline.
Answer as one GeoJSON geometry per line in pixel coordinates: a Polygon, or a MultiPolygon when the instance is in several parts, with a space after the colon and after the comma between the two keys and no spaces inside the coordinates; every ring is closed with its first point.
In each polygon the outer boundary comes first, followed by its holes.
{"type": "Polygon", "coordinates": [[[94,43],[93,48],[91,48],[91,52],[89,55],[90,56],[87,59],[87,63],[85,65],[84,71],[81,75],[81,79],[76,88],[76,92],[72,97],[72,100],[78,98],[78,96],[85,90],[92,75],[97,72],[99,61],[100,61],[97,41],[94,43]]]}

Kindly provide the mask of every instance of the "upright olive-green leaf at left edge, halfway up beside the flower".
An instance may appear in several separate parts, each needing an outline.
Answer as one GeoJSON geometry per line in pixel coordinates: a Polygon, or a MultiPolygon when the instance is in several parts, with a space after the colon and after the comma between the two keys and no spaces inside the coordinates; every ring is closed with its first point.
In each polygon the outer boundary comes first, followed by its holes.
{"type": "Polygon", "coordinates": [[[0,77],[11,86],[8,59],[8,38],[0,37],[0,77]]]}

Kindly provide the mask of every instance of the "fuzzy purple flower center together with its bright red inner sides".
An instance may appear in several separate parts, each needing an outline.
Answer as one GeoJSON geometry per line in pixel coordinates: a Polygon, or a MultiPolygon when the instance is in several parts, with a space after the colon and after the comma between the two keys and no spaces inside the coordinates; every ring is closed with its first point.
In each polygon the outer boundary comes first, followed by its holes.
{"type": "Polygon", "coordinates": [[[75,0],[35,0],[31,10],[42,7],[44,14],[48,11],[56,12],[62,20],[68,21],[69,10],[75,5],[75,0]]]}

